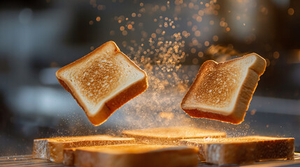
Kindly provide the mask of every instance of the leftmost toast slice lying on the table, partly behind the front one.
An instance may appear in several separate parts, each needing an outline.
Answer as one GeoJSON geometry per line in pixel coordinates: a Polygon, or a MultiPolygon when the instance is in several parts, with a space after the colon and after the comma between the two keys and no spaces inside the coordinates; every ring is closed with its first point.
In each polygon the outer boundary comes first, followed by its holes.
{"type": "Polygon", "coordinates": [[[62,162],[64,148],[122,143],[134,143],[134,138],[121,138],[108,135],[41,138],[34,140],[33,157],[34,159],[49,159],[50,161],[62,162]]]}

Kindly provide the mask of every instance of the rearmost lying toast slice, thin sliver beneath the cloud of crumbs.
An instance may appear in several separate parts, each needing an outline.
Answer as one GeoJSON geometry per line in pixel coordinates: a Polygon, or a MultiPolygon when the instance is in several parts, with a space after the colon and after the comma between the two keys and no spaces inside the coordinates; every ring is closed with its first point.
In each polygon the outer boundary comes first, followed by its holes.
{"type": "Polygon", "coordinates": [[[153,129],[125,130],[123,136],[132,137],[138,143],[145,144],[179,144],[183,138],[219,138],[226,137],[225,132],[217,132],[195,127],[160,127],[153,129]]]}

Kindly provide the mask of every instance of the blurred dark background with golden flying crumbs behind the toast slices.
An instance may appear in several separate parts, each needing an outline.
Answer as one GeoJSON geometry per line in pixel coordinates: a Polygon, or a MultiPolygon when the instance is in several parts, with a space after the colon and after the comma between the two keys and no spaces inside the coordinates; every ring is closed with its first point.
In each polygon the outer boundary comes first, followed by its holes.
{"type": "Polygon", "coordinates": [[[297,0],[0,1],[0,156],[31,154],[34,138],[176,125],[294,137],[300,152],[299,30],[297,0]],[[150,87],[94,127],[55,72],[109,40],[150,87]],[[241,125],[185,115],[204,61],[251,52],[267,67],[241,125]]]}

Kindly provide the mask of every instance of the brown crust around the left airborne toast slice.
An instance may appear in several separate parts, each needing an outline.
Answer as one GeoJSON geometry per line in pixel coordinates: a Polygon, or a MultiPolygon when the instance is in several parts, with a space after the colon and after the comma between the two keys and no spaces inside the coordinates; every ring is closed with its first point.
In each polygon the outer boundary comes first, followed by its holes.
{"type": "Polygon", "coordinates": [[[123,54],[113,41],[106,42],[105,44],[92,51],[90,54],[83,56],[83,58],[80,58],[77,61],[74,61],[73,63],[60,68],[59,70],[57,70],[56,76],[59,83],[69,93],[71,93],[78,105],[83,109],[83,111],[85,111],[87,118],[89,118],[90,122],[92,122],[93,125],[101,125],[108,119],[109,116],[111,116],[111,114],[113,114],[114,111],[119,109],[123,104],[133,99],[137,95],[143,93],[148,88],[147,74],[143,70],[141,70],[141,68],[138,67],[133,61],[131,61],[125,54],[123,54]],[[127,63],[129,63],[133,67],[136,67],[136,70],[142,72],[144,77],[132,84],[129,84],[129,86],[122,89],[119,93],[116,93],[115,95],[113,95],[113,97],[110,97],[108,100],[103,102],[102,106],[99,108],[99,111],[91,114],[83,99],[81,99],[80,95],[78,95],[76,88],[73,87],[68,79],[64,79],[64,77],[62,77],[62,72],[69,70],[71,67],[74,67],[80,63],[84,63],[89,58],[92,58],[92,56],[94,56],[94,54],[96,54],[97,52],[101,52],[104,47],[113,47],[113,52],[111,54],[122,54],[122,56],[127,60],[127,63]]]}

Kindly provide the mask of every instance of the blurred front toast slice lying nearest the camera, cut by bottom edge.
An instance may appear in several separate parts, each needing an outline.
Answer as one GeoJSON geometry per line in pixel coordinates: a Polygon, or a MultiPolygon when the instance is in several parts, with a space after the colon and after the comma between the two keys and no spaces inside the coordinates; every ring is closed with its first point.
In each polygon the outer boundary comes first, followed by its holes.
{"type": "Polygon", "coordinates": [[[197,166],[198,149],[174,145],[106,145],[75,151],[75,166],[197,166]]]}

